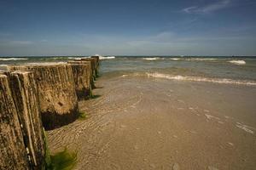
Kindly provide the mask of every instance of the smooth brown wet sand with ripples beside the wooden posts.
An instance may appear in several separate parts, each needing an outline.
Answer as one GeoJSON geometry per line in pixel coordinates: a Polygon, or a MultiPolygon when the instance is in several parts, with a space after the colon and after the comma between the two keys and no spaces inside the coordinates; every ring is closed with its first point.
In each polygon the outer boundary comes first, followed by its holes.
{"type": "Polygon", "coordinates": [[[48,131],[49,149],[78,151],[75,169],[255,169],[256,88],[101,77],[89,118],[48,131]]]}

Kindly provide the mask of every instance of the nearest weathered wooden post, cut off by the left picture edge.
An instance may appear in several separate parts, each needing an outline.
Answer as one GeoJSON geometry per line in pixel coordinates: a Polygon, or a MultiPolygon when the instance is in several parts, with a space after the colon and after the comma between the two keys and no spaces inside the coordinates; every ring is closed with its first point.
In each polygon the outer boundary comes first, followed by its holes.
{"type": "Polygon", "coordinates": [[[9,88],[9,78],[0,74],[0,169],[28,168],[26,147],[9,88]]]}

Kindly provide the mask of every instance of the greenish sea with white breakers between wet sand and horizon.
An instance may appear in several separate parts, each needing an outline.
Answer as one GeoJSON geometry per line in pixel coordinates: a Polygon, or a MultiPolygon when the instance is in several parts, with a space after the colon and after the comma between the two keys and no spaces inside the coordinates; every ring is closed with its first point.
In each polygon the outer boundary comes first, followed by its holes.
{"type": "MultiPolygon", "coordinates": [[[[0,69],[4,70],[6,65],[66,62],[79,58],[82,57],[1,57],[0,69]]],[[[108,56],[101,57],[100,69],[104,77],[136,76],[256,86],[256,57],[108,56]]]]}

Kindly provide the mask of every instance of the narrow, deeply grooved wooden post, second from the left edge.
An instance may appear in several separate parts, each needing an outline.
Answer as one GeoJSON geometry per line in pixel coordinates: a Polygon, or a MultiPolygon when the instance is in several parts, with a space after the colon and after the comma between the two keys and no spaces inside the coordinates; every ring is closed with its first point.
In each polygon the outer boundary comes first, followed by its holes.
{"type": "Polygon", "coordinates": [[[23,139],[30,164],[34,169],[44,166],[44,132],[38,105],[38,90],[31,71],[7,73],[15,101],[23,139]]]}

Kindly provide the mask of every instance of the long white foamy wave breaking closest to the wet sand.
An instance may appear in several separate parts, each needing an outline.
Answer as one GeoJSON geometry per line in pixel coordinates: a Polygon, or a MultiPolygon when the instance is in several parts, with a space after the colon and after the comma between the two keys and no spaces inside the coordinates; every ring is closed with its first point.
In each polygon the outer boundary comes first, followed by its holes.
{"type": "Polygon", "coordinates": [[[241,81],[241,80],[232,80],[227,78],[206,78],[206,77],[189,77],[189,76],[172,76],[161,73],[146,73],[148,77],[154,78],[165,78],[168,80],[177,80],[177,81],[191,81],[191,82],[214,82],[221,84],[239,84],[239,85],[248,85],[248,86],[256,86],[255,81],[241,81]]]}

